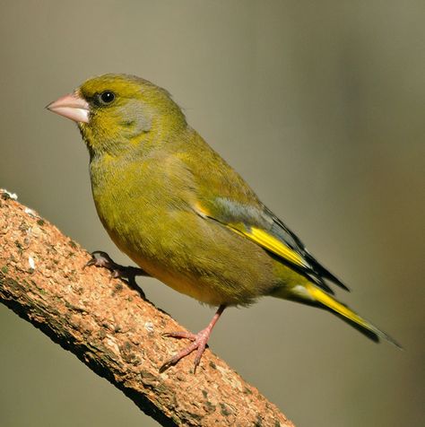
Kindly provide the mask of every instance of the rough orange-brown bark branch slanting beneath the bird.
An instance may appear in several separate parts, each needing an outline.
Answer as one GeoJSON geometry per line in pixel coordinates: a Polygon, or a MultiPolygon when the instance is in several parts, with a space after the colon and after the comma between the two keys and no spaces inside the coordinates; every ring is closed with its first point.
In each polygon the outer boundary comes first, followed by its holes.
{"type": "Polygon", "coordinates": [[[90,254],[0,190],[0,301],[108,379],[162,425],[293,426],[210,350],[159,372],[184,329],[90,254]]]}

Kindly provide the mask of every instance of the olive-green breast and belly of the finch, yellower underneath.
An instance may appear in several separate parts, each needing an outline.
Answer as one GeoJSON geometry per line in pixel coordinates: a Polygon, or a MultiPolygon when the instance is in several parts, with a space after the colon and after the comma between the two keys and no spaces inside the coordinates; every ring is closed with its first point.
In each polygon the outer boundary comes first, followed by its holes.
{"type": "Polygon", "coordinates": [[[100,221],[146,272],[212,305],[254,301],[273,286],[273,261],[262,248],[195,213],[194,189],[177,165],[91,166],[100,221]],[[174,173],[173,168],[175,168],[174,173]]]}

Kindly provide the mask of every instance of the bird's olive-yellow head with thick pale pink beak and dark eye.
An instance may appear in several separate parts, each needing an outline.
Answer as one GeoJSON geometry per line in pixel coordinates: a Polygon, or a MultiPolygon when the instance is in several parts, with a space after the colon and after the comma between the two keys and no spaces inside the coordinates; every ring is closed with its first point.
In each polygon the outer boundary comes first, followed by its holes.
{"type": "Polygon", "coordinates": [[[103,74],[47,107],[77,122],[94,153],[117,150],[143,139],[167,138],[186,126],[186,118],[169,92],[140,77],[103,74]]]}

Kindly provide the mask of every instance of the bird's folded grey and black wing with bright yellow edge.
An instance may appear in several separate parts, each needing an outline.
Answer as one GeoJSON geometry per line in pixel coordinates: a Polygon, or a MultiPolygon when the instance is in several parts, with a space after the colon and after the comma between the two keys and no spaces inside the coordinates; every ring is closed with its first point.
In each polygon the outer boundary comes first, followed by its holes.
{"type": "Polygon", "coordinates": [[[325,279],[348,290],[265,205],[247,205],[229,197],[216,197],[204,203],[198,202],[195,211],[254,241],[326,292],[334,293],[325,279]]]}

